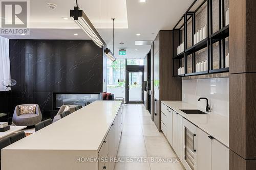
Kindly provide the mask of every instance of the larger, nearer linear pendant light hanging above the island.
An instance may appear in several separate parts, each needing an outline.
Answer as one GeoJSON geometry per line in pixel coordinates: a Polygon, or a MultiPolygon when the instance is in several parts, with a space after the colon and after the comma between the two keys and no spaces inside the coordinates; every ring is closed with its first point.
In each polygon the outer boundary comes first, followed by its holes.
{"type": "Polygon", "coordinates": [[[74,10],[70,10],[70,17],[77,23],[77,25],[87,33],[87,35],[93,40],[93,42],[102,48],[105,45],[104,40],[101,38],[97,30],[94,28],[90,19],[86,16],[86,14],[79,10],[77,0],[76,7],[74,10]]]}

